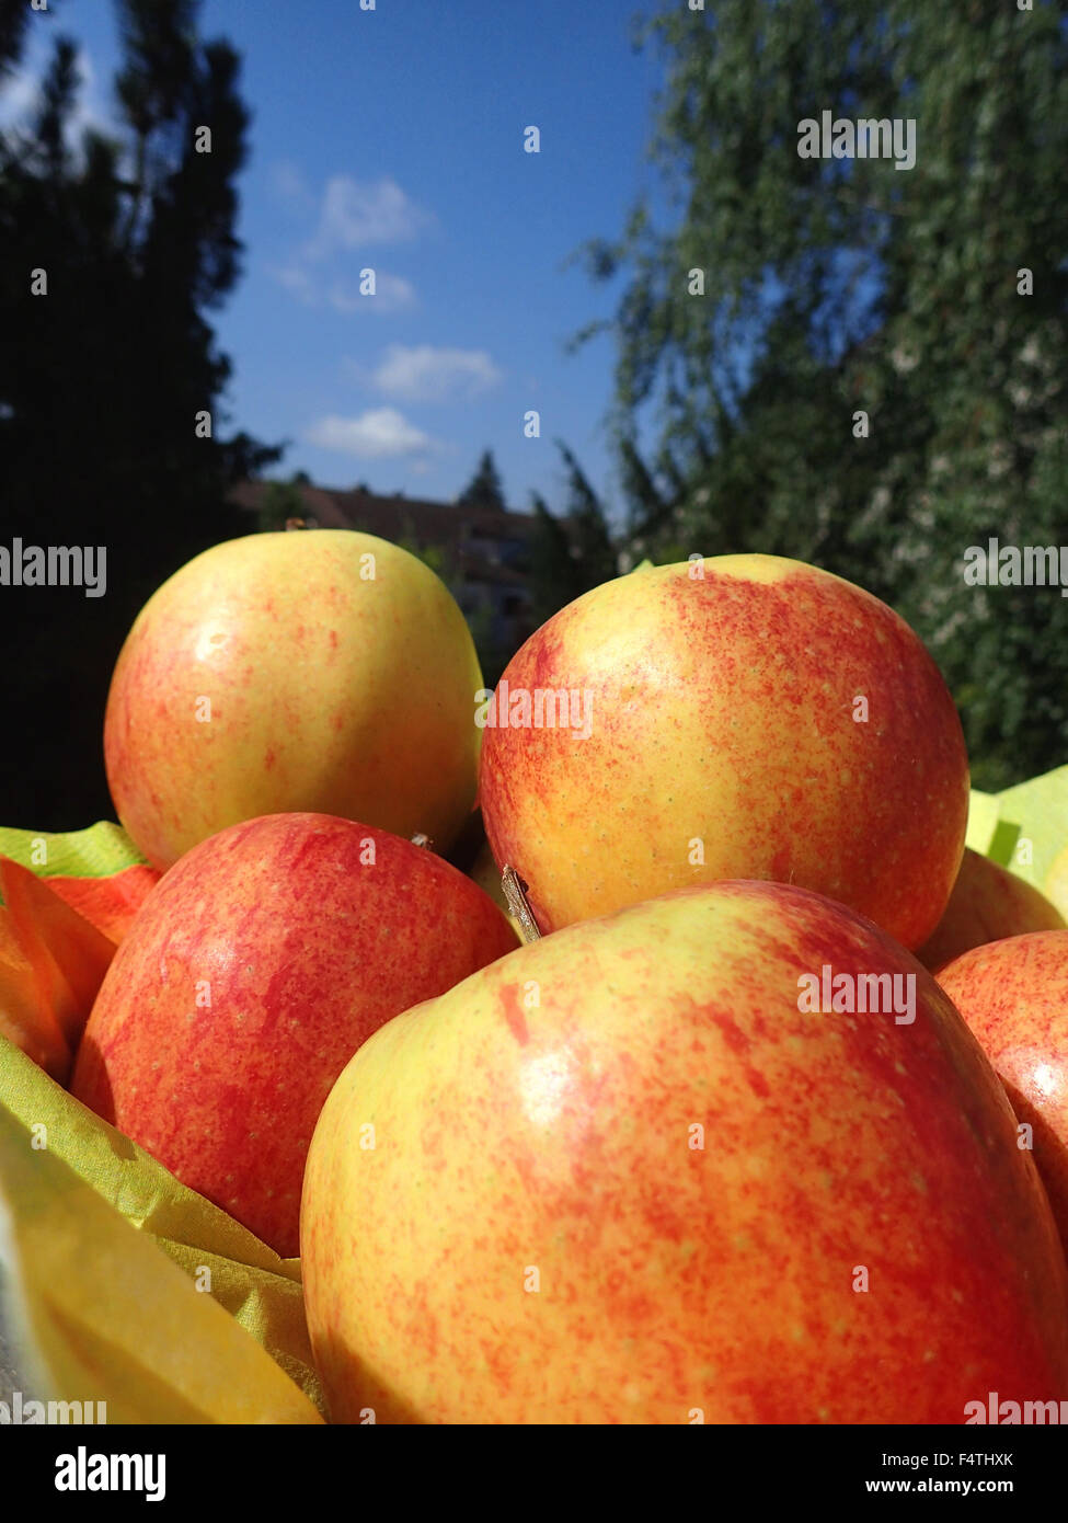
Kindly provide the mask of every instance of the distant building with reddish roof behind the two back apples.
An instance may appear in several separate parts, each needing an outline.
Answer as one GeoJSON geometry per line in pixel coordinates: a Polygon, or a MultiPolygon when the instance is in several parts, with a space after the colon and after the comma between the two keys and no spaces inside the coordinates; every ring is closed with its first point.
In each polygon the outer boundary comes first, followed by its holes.
{"type": "MultiPolygon", "coordinates": [[[[242,481],[232,498],[253,524],[271,510],[271,481],[242,481]]],[[[530,513],[498,512],[460,503],[376,496],[360,487],[334,490],[311,481],[282,483],[293,496],[289,516],[318,528],[360,528],[424,556],[463,609],[478,644],[488,681],[533,634],[530,541],[536,519],[530,513]]],[[[277,490],[277,489],[276,489],[277,490]]]]}

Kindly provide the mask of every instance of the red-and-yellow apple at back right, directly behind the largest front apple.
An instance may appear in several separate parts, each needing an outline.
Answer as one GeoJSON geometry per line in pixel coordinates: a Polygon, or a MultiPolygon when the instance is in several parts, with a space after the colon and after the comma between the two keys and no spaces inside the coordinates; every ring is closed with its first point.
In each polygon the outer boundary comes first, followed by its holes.
{"type": "Polygon", "coordinates": [[[504,678],[593,701],[588,739],[483,736],[486,836],[542,931],[719,879],[812,888],[907,947],[938,923],[967,824],[960,719],[919,637],[850,582],[779,556],[637,570],[504,678]]]}

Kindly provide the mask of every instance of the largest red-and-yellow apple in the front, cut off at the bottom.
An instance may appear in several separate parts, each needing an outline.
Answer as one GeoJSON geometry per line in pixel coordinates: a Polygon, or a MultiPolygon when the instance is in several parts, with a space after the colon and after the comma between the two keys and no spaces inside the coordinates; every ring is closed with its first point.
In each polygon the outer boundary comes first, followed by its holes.
{"type": "Polygon", "coordinates": [[[300,1252],[341,1422],[1068,1395],[1065,1261],[993,1069],[908,952],[786,885],[570,926],[375,1033],[315,1127],[300,1252]],[[913,973],[914,1022],[801,1014],[823,964],[913,973]]]}

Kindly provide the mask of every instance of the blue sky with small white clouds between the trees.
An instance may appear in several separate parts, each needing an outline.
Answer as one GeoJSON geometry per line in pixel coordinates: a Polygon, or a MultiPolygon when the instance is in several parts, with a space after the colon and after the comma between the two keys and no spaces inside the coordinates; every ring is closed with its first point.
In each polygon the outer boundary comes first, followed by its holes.
{"type": "MultiPolygon", "coordinates": [[[[614,238],[641,190],[663,65],[628,0],[204,0],[200,32],[242,56],[253,113],[239,180],[244,276],[210,314],[232,422],[291,440],[271,474],[451,500],[492,449],[512,507],[564,504],[562,437],[619,506],[603,419],[611,315],[570,254],[614,238]],[[529,125],[541,152],[523,152],[529,125]],[[376,271],[378,294],[358,294],[376,271]],[[541,439],[523,414],[541,411],[541,439]]],[[[81,114],[113,120],[108,0],[30,20],[0,123],[26,110],[55,30],[84,49],[81,114]]],[[[660,196],[654,195],[654,204],[660,196]]]]}

